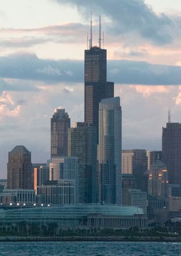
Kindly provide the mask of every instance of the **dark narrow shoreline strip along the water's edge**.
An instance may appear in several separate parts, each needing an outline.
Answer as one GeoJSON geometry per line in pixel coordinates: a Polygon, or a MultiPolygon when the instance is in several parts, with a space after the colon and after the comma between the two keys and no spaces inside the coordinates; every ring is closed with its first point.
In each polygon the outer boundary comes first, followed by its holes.
{"type": "Polygon", "coordinates": [[[0,242],[181,242],[167,236],[0,236],[0,242]]]}

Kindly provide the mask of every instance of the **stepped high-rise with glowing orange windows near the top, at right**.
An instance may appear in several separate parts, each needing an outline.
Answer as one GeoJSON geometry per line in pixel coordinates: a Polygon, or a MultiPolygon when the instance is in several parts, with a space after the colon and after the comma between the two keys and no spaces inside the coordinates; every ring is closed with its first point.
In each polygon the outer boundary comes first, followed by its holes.
{"type": "Polygon", "coordinates": [[[149,170],[148,194],[160,199],[168,198],[168,171],[160,160],[156,160],[149,170]]]}

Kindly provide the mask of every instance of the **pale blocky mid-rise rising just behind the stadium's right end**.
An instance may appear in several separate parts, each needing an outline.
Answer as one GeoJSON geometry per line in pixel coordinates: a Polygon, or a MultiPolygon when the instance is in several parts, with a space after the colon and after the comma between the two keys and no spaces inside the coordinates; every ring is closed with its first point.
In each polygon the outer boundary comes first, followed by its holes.
{"type": "Polygon", "coordinates": [[[139,189],[129,189],[126,193],[126,205],[142,208],[147,214],[147,193],[139,189]]]}

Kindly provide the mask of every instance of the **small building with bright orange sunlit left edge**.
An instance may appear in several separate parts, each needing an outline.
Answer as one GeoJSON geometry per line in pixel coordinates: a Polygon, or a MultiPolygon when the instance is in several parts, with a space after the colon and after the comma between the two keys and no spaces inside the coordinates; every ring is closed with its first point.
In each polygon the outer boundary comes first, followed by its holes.
{"type": "Polygon", "coordinates": [[[44,185],[49,180],[49,165],[40,165],[34,168],[34,190],[37,194],[37,186],[44,185]]]}

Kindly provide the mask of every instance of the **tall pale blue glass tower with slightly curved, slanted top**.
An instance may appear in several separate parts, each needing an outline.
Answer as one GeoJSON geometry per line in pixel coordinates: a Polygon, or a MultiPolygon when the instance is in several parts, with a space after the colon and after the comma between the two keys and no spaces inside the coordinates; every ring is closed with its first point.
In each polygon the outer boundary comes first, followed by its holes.
{"type": "Polygon", "coordinates": [[[121,204],[121,119],[120,97],[99,103],[99,201],[121,204]]]}

